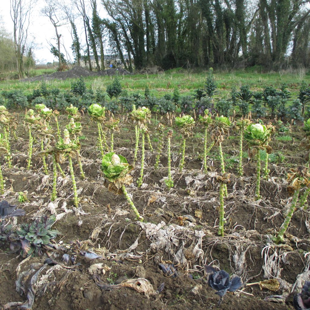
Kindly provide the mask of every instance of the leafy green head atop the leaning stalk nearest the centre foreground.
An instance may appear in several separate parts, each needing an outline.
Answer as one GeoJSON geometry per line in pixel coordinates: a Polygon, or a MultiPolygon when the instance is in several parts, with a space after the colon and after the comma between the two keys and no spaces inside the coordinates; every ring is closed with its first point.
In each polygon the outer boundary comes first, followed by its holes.
{"type": "Polygon", "coordinates": [[[101,170],[110,182],[124,177],[130,168],[131,166],[129,166],[126,158],[114,152],[109,152],[102,158],[101,170]]]}

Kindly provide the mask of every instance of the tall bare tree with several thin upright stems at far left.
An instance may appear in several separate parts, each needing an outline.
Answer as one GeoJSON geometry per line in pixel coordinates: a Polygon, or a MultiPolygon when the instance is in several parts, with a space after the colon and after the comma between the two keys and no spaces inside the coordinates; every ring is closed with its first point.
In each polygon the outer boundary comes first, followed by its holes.
{"type": "Polygon", "coordinates": [[[14,48],[18,78],[24,76],[23,55],[26,48],[30,15],[36,0],[10,0],[10,15],[13,21],[14,48]]]}

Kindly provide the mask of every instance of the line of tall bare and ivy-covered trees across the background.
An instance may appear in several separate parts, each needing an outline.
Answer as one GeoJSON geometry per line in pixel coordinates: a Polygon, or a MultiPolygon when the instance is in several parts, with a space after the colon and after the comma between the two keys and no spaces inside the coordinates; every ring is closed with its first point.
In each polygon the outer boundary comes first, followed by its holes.
{"type": "MultiPolygon", "coordinates": [[[[11,0],[20,76],[35,1],[11,0]]],[[[84,61],[90,70],[105,69],[106,52],[119,55],[129,71],[152,65],[163,69],[310,65],[309,0],[44,0],[41,13],[55,28],[57,44],[50,45],[59,70],[66,63],[60,44],[64,25],[72,29],[74,62],[84,61]],[[101,17],[102,8],[106,18],[101,17]]]]}

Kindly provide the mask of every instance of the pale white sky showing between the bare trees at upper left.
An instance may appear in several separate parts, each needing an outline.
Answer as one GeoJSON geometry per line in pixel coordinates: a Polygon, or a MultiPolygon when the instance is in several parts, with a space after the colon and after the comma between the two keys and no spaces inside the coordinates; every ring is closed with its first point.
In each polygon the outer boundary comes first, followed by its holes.
{"type": "MultiPolygon", "coordinates": [[[[26,0],[28,1],[28,0],[26,0]]],[[[64,0],[67,2],[67,0],[64,0]]],[[[87,4],[87,0],[85,1],[87,4]]],[[[101,6],[101,1],[97,2],[98,10],[103,12],[103,8],[101,6]]],[[[10,0],[0,0],[0,15],[2,16],[2,20],[4,23],[4,27],[7,29],[9,33],[13,33],[13,22],[10,15],[10,0]]],[[[69,3],[69,1],[68,1],[69,3]]],[[[37,64],[46,64],[47,62],[58,61],[54,55],[50,52],[50,46],[48,42],[51,42],[55,47],[57,47],[56,43],[56,34],[55,28],[51,24],[51,21],[48,17],[42,16],[40,10],[44,7],[44,2],[42,0],[38,0],[37,5],[33,9],[33,12],[30,17],[30,25],[29,25],[29,32],[28,32],[28,41],[34,42],[34,56],[37,64]]],[[[104,12],[105,13],[105,12],[104,12]]],[[[101,14],[101,17],[105,14],[101,14]]],[[[90,14],[91,16],[91,14],[90,14]]],[[[82,48],[84,49],[85,44],[85,33],[84,33],[84,26],[82,24],[82,20],[75,20],[76,26],[78,29],[78,35],[82,42],[82,48]]],[[[64,50],[64,47],[60,47],[60,51],[64,53],[65,58],[73,61],[71,45],[72,45],[72,37],[71,37],[71,26],[64,25],[58,28],[58,33],[61,33],[61,44],[64,45],[67,53],[64,50]]],[[[82,55],[84,54],[81,51],[82,55]]]]}

